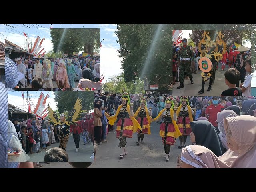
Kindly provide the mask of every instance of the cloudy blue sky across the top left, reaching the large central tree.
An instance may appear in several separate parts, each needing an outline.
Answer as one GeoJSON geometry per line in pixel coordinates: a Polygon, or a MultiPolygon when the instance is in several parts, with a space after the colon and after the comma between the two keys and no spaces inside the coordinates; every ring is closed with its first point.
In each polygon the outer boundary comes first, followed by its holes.
{"type": "MultiPolygon", "coordinates": [[[[28,38],[32,38],[35,41],[37,35],[40,38],[43,37],[45,40],[42,43],[42,48],[44,47],[46,53],[51,51],[52,43],[50,36],[50,25],[49,24],[33,24],[38,26],[32,26],[32,24],[8,24],[10,26],[16,27],[12,28],[4,24],[0,24],[0,41],[4,42],[4,39],[17,44],[18,46],[24,48],[24,35],[23,32],[28,33],[28,38]],[[29,28],[30,27],[30,28],[29,28]],[[42,28],[45,27],[45,28],[42,28]]],[[[119,44],[116,42],[118,40],[115,30],[116,24],[53,24],[53,28],[100,28],[100,41],[102,41],[102,48],[100,49],[100,58],[102,64],[100,66],[101,74],[104,76],[103,83],[112,76],[117,75],[122,72],[121,61],[122,58],[118,57],[117,50],[120,48],[119,44]]],[[[25,40],[26,49],[26,40],[25,40]]]]}

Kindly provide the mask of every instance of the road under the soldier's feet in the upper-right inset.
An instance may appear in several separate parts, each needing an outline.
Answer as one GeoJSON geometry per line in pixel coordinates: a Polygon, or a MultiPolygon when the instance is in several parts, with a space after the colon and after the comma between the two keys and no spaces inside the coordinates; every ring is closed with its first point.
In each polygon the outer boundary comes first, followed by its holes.
{"type": "MultiPolygon", "coordinates": [[[[221,64],[218,64],[218,71],[216,71],[215,83],[212,84],[212,90],[207,91],[209,86],[209,80],[204,85],[204,93],[200,96],[220,96],[222,91],[227,90],[228,86],[225,84],[224,73],[228,70],[228,65],[225,66],[224,71],[221,70],[221,64]]],[[[198,96],[198,91],[202,88],[202,76],[201,71],[198,71],[197,74],[193,73],[194,84],[190,84],[190,79],[184,80],[184,88],[177,89],[180,85],[178,82],[177,85],[173,85],[174,89],[172,94],[174,96],[198,96]]]]}

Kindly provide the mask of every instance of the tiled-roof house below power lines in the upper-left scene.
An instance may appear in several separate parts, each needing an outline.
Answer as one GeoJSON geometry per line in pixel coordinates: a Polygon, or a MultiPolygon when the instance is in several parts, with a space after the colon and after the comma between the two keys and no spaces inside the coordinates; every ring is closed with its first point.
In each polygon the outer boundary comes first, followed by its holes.
{"type": "Polygon", "coordinates": [[[10,59],[15,59],[19,56],[22,56],[26,58],[29,54],[27,53],[26,50],[21,48],[20,46],[8,41],[7,39],[5,40],[5,56],[9,57],[10,59]]]}

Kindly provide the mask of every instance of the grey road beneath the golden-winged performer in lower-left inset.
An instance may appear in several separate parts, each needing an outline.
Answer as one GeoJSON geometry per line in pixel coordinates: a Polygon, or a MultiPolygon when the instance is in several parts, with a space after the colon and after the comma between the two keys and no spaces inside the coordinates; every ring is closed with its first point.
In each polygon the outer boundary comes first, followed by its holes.
{"type": "MultiPolygon", "coordinates": [[[[73,137],[69,136],[69,140],[68,140],[68,144],[66,147],[66,152],[68,153],[68,158],[69,158],[69,162],[93,162],[93,160],[90,158],[93,150],[94,150],[94,146],[92,145],[92,143],[83,144],[83,137],[81,134],[81,138],[80,138],[80,143],[79,143],[79,150],[78,152],[76,152],[76,147],[75,147],[75,143],[74,143],[74,139],[73,137]]],[[[52,147],[59,147],[59,143],[55,143],[52,144],[51,146],[48,147],[48,149],[52,148],[52,147]]],[[[35,153],[33,155],[30,155],[30,162],[44,162],[44,155],[46,153],[46,150],[42,150],[42,152],[35,153]]]]}

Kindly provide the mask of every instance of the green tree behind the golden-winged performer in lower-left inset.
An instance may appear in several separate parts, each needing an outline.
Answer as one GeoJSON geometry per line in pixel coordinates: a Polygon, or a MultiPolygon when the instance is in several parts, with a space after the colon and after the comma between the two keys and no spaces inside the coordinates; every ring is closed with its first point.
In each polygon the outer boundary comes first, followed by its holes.
{"type": "Polygon", "coordinates": [[[72,110],[77,98],[82,99],[82,110],[94,108],[94,93],[92,91],[56,91],[54,95],[59,113],[72,110]]]}

